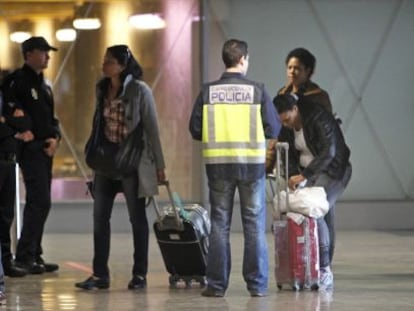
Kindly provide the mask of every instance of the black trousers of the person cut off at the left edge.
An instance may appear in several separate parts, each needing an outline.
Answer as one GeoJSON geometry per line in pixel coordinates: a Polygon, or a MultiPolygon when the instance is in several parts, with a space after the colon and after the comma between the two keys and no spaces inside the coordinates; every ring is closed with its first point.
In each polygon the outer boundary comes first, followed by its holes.
{"type": "Polygon", "coordinates": [[[15,163],[0,160],[0,242],[3,264],[12,260],[10,227],[14,218],[15,163]]]}

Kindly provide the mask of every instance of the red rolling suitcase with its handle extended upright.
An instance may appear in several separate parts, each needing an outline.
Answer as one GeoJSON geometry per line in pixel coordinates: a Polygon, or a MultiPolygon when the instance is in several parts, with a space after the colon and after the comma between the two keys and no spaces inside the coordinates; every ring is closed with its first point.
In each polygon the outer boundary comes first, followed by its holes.
{"type": "MultiPolygon", "coordinates": [[[[276,186],[280,183],[280,160],[285,154],[285,176],[288,176],[289,144],[277,143],[276,186]]],[[[287,188],[287,183],[286,188],[287,188]]],[[[276,189],[278,196],[280,189],[276,189]]],[[[287,189],[286,189],[287,190],[287,189]]],[[[286,196],[288,200],[289,196],[286,196]]],[[[279,204],[279,196],[277,197],[279,204]]],[[[286,202],[289,206],[289,202],[286,202]]],[[[275,237],[275,278],[279,289],[289,285],[293,290],[319,288],[318,228],[314,218],[297,213],[282,214],[273,221],[275,237]]]]}

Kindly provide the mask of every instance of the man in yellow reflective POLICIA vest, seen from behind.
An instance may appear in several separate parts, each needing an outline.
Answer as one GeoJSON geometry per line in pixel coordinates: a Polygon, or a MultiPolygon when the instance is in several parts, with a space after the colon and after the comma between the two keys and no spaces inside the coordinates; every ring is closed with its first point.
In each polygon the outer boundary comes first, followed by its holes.
{"type": "Polygon", "coordinates": [[[231,270],[230,225],[236,189],[244,233],[243,277],[252,297],[268,291],[266,243],[266,138],[279,135],[281,124],[263,84],[245,77],[247,43],[225,42],[225,72],[203,86],[194,104],[190,132],[203,143],[211,205],[206,297],[224,296],[231,270]]]}

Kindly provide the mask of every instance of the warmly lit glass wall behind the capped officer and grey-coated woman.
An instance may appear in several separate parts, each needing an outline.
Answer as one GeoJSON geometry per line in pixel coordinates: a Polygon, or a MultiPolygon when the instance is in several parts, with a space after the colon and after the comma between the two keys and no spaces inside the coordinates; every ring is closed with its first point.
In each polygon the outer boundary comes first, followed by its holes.
{"type": "MultiPolygon", "coordinates": [[[[106,47],[128,44],[144,70],[156,99],[167,176],[184,198],[199,192],[193,184],[193,145],[187,130],[194,93],[200,82],[199,4],[197,0],[0,0],[0,68],[3,73],[23,64],[15,31],[44,36],[59,48],[50,52],[45,76],[53,86],[63,140],[54,162],[55,200],[82,198],[84,178],[91,176],[83,149],[95,106],[95,83],[101,77],[106,47]],[[160,29],[136,29],[128,18],[155,13],[160,29]],[[72,28],[77,17],[98,18],[101,26],[76,30],[74,41],[58,41],[60,28],[72,28]]],[[[197,164],[196,164],[197,165],[197,164]]],[[[195,173],[197,174],[197,173],[195,173]]]]}

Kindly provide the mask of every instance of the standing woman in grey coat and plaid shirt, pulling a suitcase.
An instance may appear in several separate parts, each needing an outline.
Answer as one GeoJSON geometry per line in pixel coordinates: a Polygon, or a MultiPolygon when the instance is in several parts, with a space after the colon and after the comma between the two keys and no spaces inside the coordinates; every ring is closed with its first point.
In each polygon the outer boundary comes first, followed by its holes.
{"type": "Polygon", "coordinates": [[[121,191],[134,241],[134,265],[128,288],[142,289],[147,285],[148,270],[149,226],[145,198],[157,194],[158,182],[165,180],[155,103],[151,89],[141,80],[141,66],[128,46],[107,48],[102,71],[104,77],[96,87],[93,128],[102,129],[98,136],[100,145],[110,152],[104,165],[88,162],[87,156],[87,163],[95,173],[93,275],[75,286],[82,289],[110,286],[110,218],[115,196],[121,191]],[[138,157],[128,158],[129,154],[138,157]],[[122,156],[119,155],[126,155],[129,162],[120,163],[122,156]]]}

